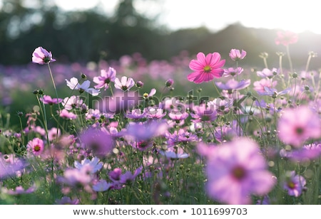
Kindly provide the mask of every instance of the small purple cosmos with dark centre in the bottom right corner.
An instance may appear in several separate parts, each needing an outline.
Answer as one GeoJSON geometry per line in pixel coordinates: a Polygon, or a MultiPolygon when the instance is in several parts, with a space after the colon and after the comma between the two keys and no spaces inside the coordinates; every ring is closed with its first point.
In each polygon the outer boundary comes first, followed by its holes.
{"type": "Polygon", "coordinates": [[[305,178],[297,175],[295,171],[287,172],[285,175],[283,188],[287,190],[287,194],[289,194],[289,196],[299,197],[305,189],[305,178]]]}

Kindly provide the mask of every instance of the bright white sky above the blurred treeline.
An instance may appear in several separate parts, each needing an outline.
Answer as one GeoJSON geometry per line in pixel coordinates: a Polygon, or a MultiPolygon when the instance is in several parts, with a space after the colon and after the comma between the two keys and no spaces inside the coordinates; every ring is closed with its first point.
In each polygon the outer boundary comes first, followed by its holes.
{"type": "MultiPolygon", "coordinates": [[[[118,0],[56,0],[65,10],[89,9],[98,2],[108,14],[118,4],[118,0]]],[[[321,34],[321,9],[315,0],[136,0],[135,6],[146,16],[159,14],[158,23],[171,30],[206,26],[211,31],[220,31],[240,23],[252,28],[321,34]]]]}

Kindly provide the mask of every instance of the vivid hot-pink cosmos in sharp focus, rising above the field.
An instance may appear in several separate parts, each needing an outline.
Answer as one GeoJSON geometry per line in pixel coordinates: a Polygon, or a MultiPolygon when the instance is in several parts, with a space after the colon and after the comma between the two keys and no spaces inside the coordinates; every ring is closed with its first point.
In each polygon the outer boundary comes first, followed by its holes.
{"type": "Polygon", "coordinates": [[[225,60],[220,60],[220,53],[198,53],[197,60],[190,61],[190,69],[194,70],[193,73],[188,75],[188,80],[200,84],[202,82],[208,82],[214,78],[222,77],[225,65],[225,60]]]}

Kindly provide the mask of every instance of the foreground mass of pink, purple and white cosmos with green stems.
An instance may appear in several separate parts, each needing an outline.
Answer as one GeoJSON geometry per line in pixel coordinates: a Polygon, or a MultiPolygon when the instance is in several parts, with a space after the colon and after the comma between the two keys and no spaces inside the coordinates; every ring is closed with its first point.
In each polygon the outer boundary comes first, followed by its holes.
{"type": "MultiPolygon", "coordinates": [[[[289,32],[275,40],[296,42],[289,32]]],[[[92,79],[66,78],[67,97],[35,90],[41,110],[26,114],[21,132],[8,134],[16,145],[1,154],[0,193],[36,196],[47,186],[55,191],[52,204],[160,204],[193,188],[213,204],[284,204],[285,196],[305,203],[303,193],[317,202],[319,73],[282,66],[250,72],[240,65],[246,55],[230,50],[235,67],[217,52],[190,60],[192,72],[181,80],[213,86],[200,99],[163,97],[173,91],[172,78],[163,90],[144,90],[146,82],[113,66],[92,79]],[[49,183],[41,185],[43,177],[49,183]]],[[[39,47],[32,61],[56,59],[39,47]]]]}

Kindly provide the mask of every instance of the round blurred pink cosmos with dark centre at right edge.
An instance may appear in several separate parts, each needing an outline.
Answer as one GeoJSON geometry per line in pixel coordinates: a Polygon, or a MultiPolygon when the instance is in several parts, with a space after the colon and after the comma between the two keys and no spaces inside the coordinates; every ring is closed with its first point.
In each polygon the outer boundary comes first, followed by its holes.
{"type": "Polygon", "coordinates": [[[307,139],[321,137],[321,119],[317,112],[304,105],[287,108],[277,122],[277,131],[285,144],[300,148],[307,139]]]}

